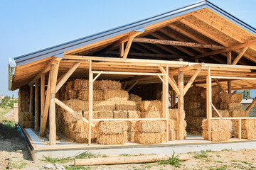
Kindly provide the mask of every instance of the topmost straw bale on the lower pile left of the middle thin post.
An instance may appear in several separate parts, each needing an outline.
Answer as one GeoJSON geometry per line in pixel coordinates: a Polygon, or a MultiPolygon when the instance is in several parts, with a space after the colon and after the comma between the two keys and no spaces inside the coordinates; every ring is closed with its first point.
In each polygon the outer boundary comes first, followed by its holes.
{"type": "Polygon", "coordinates": [[[162,102],[158,100],[154,101],[141,101],[139,102],[140,111],[162,111],[162,102]]]}

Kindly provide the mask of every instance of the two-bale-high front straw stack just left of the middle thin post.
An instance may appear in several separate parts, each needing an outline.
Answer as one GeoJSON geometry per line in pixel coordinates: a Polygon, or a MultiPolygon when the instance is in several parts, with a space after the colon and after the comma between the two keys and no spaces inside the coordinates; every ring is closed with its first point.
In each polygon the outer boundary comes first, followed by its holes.
{"type": "Polygon", "coordinates": [[[139,144],[157,144],[164,140],[166,123],[163,120],[137,121],[134,142],[139,144]]]}

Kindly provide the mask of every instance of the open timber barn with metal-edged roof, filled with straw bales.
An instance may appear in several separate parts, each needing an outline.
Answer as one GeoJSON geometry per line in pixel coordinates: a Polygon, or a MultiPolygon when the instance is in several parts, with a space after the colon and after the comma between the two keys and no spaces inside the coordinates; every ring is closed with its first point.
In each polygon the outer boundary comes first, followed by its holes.
{"type": "Polygon", "coordinates": [[[195,143],[255,140],[247,112],[256,101],[242,111],[233,94],[256,89],[255,33],[199,1],[15,57],[9,90],[20,89],[19,124],[31,151],[185,144],[186,124],[203,132],[195,143]]]}

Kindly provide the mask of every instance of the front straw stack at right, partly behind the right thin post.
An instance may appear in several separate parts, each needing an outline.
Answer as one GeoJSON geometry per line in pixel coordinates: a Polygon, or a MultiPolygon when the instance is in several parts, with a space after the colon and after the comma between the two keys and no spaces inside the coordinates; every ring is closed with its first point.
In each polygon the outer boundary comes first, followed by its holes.
{"type": "MultiPolygon", "coordinates": [[[[203,120],[203,139],[208,140],[208,120],[203,120]]],[[[231,120],[211,120],[210,121],[210,139],[213,142],[229,140],[231,137],[231,120]]]]}

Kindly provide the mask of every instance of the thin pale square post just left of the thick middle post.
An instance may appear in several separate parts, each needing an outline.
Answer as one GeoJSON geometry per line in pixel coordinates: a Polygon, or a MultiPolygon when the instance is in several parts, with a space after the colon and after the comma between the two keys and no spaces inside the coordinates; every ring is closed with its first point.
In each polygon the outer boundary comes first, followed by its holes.
{"type": "Polygon", "coordinates": [[[169,141],[169,64],[166,64],[166,75],[163,76],[163,117],[166,118],[166,142],[169,141]]]}

